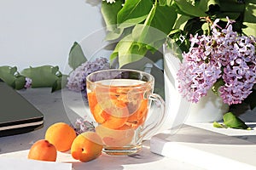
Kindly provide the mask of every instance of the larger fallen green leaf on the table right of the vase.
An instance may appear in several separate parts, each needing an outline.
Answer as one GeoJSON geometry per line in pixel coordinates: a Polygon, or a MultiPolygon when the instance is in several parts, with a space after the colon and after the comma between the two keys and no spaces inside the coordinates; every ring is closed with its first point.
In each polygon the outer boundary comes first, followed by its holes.
{"type": "Polygon", "coordinates": [[[232,112],[228,112],[223,116],[224,125],[231,128],[241,128],[241,129],[248,129],[245,122],[241,121],[241,119],[235,116],[232,112]]]}

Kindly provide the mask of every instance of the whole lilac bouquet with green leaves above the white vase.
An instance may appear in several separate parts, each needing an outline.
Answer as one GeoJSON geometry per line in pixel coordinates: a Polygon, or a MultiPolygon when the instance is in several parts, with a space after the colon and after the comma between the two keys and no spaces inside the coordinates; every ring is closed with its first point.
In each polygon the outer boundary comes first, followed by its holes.
{"type": "Polygon", "coordinates": [[[212,88],[224,103],[246,101],[251,109],[256,106],[255,13],[254,0],[102,1],[106,39],[117,42],[110,62],[118,59],[122,67],[165,43],[176,44],[183,97],[196,103],[212,88]]]}

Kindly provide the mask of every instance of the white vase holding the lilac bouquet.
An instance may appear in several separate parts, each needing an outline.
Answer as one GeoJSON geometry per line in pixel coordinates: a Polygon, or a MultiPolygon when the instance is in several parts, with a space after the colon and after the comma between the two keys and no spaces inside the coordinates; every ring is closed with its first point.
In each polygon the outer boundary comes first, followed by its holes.
{"type": "Polygon", "coordinates": [[[164,47],[164,75],[166,112],[171,127],[180,126],[184,122],[214,122],[222,119],[229,106],[222,99],[209,90],[207,96],[199,103],[191,104],[177,92],[177,71],[180,60],[172,50],[164,47]]]}

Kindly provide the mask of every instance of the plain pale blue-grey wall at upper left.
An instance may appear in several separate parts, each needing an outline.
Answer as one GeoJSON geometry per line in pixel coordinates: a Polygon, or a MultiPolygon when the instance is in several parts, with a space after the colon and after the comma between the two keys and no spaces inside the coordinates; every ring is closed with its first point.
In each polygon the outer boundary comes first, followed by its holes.
{"type": "Polygon", "coordinates": [[[0,66],[58,65],[65,72],[73,42],[103,28],[100,2],[0,0],[0,66]]]}

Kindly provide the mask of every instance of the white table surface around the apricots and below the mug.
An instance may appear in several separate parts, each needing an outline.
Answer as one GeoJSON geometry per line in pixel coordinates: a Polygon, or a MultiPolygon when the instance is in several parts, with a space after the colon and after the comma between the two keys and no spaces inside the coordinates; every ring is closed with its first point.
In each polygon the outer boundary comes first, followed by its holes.
{"type": "MultiPolygon", "coordinates": [[[[69,117],[63,106],[61,91],[50,93],[50,88],[32,88],[20,91],[32,105],[44,114],[44,127],[30,133],[0,138],[0,161],[2,159],[15,159],[19,162],[26,159],[28,150],[38,139],[44,139],[44,133],[55,122],[70,123],[69,117]]],[[[173,153],[175,154],[175,153],[173,153]]],[[[102,155],[96,160],[80,162],[72,158],[69,153],[58,152],[57,162],[72,163],[74,170],[79,169],[204,169],[180,159],[159,156],[150,152],[148,141],[144,142],[143,150],[136,156],[107,156],[102,155]]],[[[9,165],[12,166],[11,164],[9,165]]],[[[28,165],[29,166],[29,165],[28,165]]],[[[11,169],[11,168],[10,168],[11,169]]],[[[53,167],[54,169],[54,167],[53,167]]]]}

